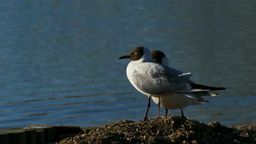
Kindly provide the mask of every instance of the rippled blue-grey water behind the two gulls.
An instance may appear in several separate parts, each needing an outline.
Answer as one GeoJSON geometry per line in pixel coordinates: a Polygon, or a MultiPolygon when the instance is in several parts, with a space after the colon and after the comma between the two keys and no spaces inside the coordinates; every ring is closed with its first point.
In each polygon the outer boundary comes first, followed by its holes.
{"type": "MultiPolygon", "coordinates": [[[[144,118],[147,96],[126,77],[135,46],[163,51],[195,82],[226,87],[184,115],[256,121],[255,1],[3,1],[0,128],[103,125],[144,118]]],[[[180,115],[180,110],[169,110],[180,115]]],[[[157,115],[151,104],[149,118],[157,115]]],[[[161,108],[161,115],[164,109],[161,108]]]]}

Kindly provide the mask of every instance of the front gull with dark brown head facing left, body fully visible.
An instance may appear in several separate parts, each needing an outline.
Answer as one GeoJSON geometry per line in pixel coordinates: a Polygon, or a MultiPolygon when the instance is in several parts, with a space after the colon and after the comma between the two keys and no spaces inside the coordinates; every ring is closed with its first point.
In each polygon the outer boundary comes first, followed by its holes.
{"type": "MultiPolygon", "coordinates": [[[[136,47],[119,59],[131,59],[126,69],[127,77],[139,92],[148,95],[148,97],[160,99],[161,97],[170,97],[174,93],[205,92],[210,90],[210,87],[194,84],[190,80],[190,73],[183,73],[177,69],[153,62],[151,52],[146,47],[136,47]]],[[[194,98],[193,95],[188,95],[187,97],[189,96],[194,98]]],[[[203,101],[202,98],[197,99],[198,101],[203,101]]],[[[158,118],[160,102],[159,100],[158,118]]],[[[183,107],[183,102],[179,102],[178,105],[183,107]]],[[[147,119],[147,114],[148,108],[144,120],[147,119]]]]}

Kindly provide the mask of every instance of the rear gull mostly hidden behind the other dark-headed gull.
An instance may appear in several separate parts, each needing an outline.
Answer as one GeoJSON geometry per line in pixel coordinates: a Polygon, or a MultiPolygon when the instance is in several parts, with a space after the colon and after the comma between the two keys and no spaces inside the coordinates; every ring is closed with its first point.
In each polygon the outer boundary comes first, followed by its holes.
{"type": "MultiPolygon", "coordinates": [[[[163,52],[158,50],[152,50],[151,54],[154,62],[158,62],[163,65],[169,66],[169,61],[167,59],[167,56],[163,52]]],[[[192,88],[209,89],[209,91],[226,89],[226,88],[209,87],[205,85],[197,85],[194,83],[190,83],[189,85],[192,88]]],[[[152,97],[152,99],[156,104],[161,103],[161,107],[165,108],[165,117],[167,117],[168,109],[177,109],[177,108],[181,110],[181,117],[184,117],[184,113],[182,111],[183,108],[187,107],[188,105],[202,105],[203,102],[209,102],[204,100],[201,96],[219,96],[219,94],[212,93],[212,92],[174,93],[173,95],[170,95],[167,97],[161,97],[161,98],[152,97]]]]}

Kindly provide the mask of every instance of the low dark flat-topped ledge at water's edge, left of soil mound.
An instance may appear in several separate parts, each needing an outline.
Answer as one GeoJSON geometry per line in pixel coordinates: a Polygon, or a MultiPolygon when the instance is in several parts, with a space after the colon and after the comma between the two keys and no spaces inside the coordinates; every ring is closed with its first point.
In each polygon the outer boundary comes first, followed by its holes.
{"type": "Polygon", "coordinates": [[[0,144],[55,144],[68,137],[89,133],[103,126],[35,124],[26,128],[0,129],[0,144]]]}

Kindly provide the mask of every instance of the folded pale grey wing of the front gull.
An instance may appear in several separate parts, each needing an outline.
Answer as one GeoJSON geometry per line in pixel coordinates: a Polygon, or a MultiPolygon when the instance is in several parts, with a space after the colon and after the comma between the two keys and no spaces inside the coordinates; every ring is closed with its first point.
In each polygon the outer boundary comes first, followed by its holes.
{"type": "Polygon", "coordinates": [[[182,75],[183,72],[176,69],[154,62],[145,62],[135,69],[131,79],[145,93],[158,95],[191,91],[188,85],[191,82],[190,75],[182,75]]]}

